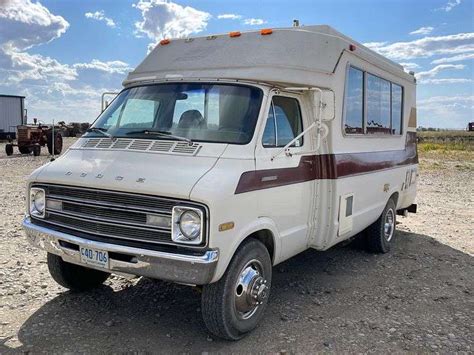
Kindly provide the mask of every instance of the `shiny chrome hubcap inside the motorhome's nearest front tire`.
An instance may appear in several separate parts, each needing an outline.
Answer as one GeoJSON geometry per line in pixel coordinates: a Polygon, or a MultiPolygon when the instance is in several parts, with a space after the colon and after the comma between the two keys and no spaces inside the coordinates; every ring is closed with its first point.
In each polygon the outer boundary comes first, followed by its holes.
{"type": "Polygon", "coordinates": [[[237,279],[235,285],[235,310],[241,319],[254,315],[268,295],[267,280],[263,266],[258,260],[249,261],[237,279]]]}

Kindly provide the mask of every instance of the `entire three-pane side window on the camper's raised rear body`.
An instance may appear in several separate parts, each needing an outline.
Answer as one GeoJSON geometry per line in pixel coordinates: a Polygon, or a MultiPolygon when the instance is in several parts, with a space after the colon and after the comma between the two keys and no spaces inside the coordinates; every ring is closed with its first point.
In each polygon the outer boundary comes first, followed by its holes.
{"type": "Polygon", "coordinates": [[[403,88],[349,67],[345,90],[346,134],[400,135],[403,88]]]}

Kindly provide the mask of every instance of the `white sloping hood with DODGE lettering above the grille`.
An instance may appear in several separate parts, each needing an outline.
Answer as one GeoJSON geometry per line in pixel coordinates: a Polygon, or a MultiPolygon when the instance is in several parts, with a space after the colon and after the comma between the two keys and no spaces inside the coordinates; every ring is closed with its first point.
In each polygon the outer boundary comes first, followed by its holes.
{"type": "Polygon", "coordinates": [[[225,147],[214,145],[212,154],[200,154],[203,149],[191,156],[71,148],[45,165],[34,181],[189,199],[225,147]]]}

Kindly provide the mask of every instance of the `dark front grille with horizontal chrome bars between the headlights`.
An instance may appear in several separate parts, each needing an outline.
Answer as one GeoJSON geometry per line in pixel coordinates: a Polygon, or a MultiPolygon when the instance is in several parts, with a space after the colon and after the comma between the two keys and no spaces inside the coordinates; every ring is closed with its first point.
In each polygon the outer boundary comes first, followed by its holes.
{"type": "Polygon", "coordinates": [[[117,242],[140,242],[145,248],[174,245],[171,228],[147,225],[147,214],[171,218],[173,206],[189,205],[202,209],[206,216],[204,206],[188,201],[75,186],[34,184],[34,187],[45,190],[47,201],[61,201],[60,209],[57,204],[47,204],[41,223],[66,228],[77,236],[88,234],[117,242]]]}

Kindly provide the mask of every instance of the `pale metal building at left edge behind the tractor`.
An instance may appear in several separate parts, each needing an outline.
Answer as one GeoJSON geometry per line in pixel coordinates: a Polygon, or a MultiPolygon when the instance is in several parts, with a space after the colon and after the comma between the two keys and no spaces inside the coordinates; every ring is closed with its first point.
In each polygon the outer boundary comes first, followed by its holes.
{"type": "Polygon", "coordinates": [[[25,97],[0,94],[0,139],[15,138],[16,126],[26,123],[25,97]]]}

